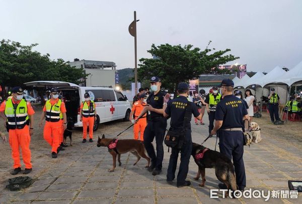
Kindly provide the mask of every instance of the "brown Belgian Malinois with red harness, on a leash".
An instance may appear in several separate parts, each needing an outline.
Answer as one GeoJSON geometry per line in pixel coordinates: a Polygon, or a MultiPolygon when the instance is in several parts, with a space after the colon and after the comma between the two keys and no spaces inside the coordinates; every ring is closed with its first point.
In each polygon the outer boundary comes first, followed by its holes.
{"type": "Polygon", "coordinates": [[[115,139],[105,138],[105,135],[103,134],[102,139],[99,137],[97,146],[108,147],[108,152],[112,155],[113,167],[112,169],[109,169],[109,172],[113,172],[115,169],[116,156],[117,156],[118,165],[121,166],[122,165],[120,160],[121,154],[125,154],[127,152],[131,152],[133,155],[137,157],[137,160],[133,165],[137,164],[137,162],[142,157],[146,159],[148,162],[148,164],[145,167],[146,168],[149,167],[150,158],[146,156],[144,145],[139,140],[115,140],[115,139]]]}

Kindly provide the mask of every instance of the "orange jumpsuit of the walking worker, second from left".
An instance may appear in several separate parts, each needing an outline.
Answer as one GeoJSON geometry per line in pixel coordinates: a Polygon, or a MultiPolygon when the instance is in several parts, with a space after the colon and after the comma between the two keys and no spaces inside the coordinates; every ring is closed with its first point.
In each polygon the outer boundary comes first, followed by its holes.
{"type": "MultiPolygon", "coordinates": [[[[53,106],[55,103],[58,102],[59,99],[51,99],[50,103],[53,106]]],[[[43,111],[46,112],[46,106],[44,105],[43,111]]],[[[62,102],[60,106],[60,111],[61,113],[66,112],[65,108],[65,103],[62,102]]],[[[46,121],[44,130],[43,130],[43,135],[44,135],[44,140],[51,146],[51,152],[57,153],[57,149],[61,144],[61,135],[62,135],[62,128],[63,125],[63,120],[59,120],[57,122],[50,122],[46,121]]]]}

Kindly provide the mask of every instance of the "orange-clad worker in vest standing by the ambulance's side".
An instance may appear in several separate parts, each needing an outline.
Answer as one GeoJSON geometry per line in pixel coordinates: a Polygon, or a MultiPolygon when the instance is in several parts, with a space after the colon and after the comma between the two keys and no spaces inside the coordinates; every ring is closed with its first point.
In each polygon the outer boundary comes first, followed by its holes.
{"type": "Polygon", "coordinates": [[[86,143],[87,139],[87,126],[89,126],[89,142],[93,142],[93,126],[97,120],[96,104],[90,100],[89,93],[84,94],[85,101],[81,103],[80,121],[83,122],[83,141],[86,143]]]}

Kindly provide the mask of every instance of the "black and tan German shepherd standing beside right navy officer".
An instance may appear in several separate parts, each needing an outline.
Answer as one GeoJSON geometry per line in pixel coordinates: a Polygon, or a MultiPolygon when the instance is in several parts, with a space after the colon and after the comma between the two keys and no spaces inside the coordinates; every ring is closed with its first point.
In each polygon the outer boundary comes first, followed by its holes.
{"type": "Polygon", "coordinates": [[[205,183],[205,168],[215,168],[215,175],[219,181],[224,183],[226,187],[232,190],[237,190],[236,177],[233,163],[231,160],[220,152],[208,149],[204,152],[201,159],[196,159],[195,155],[202,152],[205,147],[193,143],[192,157],[198,166],[198,172],[195,180],[198,180],[201,174],[202,181],[199,186],[204,186],[205,183]]]}

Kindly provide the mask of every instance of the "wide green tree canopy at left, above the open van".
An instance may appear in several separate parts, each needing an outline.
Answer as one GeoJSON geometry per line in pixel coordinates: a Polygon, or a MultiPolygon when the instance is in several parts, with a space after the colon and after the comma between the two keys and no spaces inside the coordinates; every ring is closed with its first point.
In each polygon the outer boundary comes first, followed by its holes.
{"type": "Polygon", "coordinates": [[[21,45],[19,42],[0,42],[0,84],[2,87],[23,86],[30,81],[65,81],[80,84],[88,76],[63,59],[52,60],[33,48],[38,44],[21,45]]]}

